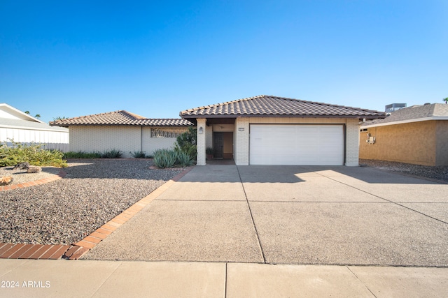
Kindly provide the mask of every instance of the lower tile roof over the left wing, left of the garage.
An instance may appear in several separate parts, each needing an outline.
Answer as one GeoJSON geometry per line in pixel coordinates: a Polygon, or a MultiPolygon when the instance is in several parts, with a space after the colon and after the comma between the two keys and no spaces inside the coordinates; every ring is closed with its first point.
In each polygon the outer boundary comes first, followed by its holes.
{"type": "Polygon", "coordinates": [[[51,126],[80,126],[80,125],[119,125],[119,126],[190,126],[186,119],[149,119],[124,110],[94,114],[88,116],[61,119],[50,122],[51,126]]]}

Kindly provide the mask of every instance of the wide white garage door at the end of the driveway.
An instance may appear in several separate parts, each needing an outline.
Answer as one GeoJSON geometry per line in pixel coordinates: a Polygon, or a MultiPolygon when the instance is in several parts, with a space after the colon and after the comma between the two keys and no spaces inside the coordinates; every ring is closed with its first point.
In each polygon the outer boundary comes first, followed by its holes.
{"type": "Polygon", "coordinates": [[[251,165],[343,165],[342,125],[251,125],[251,165]]]}

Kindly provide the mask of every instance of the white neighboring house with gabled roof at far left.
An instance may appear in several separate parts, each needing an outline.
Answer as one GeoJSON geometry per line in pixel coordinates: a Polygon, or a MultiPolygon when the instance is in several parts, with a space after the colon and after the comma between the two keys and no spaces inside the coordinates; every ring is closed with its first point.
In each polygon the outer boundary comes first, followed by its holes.
{"type": "Polygon", "coordinates": [[[46,149],[67,151],[69,130],[49,126],[15,107],[0,103],[0,142],[10,145],[11,140],[22,144],[43,144],[46,149]]]}

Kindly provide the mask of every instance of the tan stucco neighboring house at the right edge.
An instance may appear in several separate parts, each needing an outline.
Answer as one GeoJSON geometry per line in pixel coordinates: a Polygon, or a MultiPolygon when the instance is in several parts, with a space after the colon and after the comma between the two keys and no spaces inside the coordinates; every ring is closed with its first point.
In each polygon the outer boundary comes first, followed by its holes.
{"type": "Polygon", "coordinates": [[[360,126],[360,158],[448,165],[448,105],[426,103],[360,126]]]}

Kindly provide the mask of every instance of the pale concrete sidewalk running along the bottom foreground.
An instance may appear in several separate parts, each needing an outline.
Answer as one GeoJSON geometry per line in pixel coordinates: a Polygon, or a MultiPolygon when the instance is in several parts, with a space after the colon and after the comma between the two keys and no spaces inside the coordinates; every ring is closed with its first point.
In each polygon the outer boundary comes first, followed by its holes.
{"type": "Polygon", "coordinates": [[[446,297],[448,269],[0,260],[0,297],[446,297]]]}

